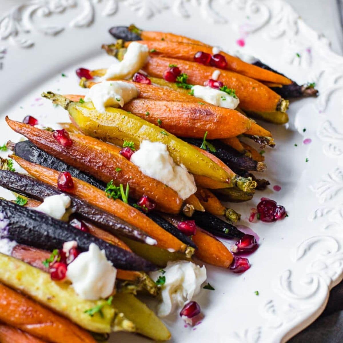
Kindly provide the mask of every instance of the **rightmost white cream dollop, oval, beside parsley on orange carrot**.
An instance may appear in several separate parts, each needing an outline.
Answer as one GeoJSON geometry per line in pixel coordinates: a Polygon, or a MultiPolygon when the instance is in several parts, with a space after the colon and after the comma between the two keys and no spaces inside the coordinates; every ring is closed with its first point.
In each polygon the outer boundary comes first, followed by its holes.
{"type": "Polygon", "coordinates": [[[220,107],[235,109],[239,104],[239,99],[226,92],[211,88],[209,86],[193,86],[193,95],[197,98],[220,107]]]}

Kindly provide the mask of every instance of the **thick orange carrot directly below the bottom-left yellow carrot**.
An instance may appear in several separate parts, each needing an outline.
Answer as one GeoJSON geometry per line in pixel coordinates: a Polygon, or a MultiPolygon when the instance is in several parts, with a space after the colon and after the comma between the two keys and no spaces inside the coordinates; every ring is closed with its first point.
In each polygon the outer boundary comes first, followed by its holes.
{"type": "Polygon", "coordinates": [[[0,299],[0,320],[6,324],[50,342],[95,343],[87,331],[2,284],[0,299]]]}

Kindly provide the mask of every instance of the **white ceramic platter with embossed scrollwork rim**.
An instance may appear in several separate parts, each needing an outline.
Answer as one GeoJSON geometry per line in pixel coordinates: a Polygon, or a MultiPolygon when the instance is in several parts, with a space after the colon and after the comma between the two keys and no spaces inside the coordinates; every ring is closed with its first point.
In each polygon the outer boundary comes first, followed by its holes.
{"type": "MultiPolygon", "coordinates": [[[[33,115],[45,124],[65,120],[66,113],[40,93],[85,94],[75,69],[109,66],[111,57],[100,50],[113,41],[107,30],[130,23],[229,51],[244,39],[242,51],[319,88],[317,99],[291,103],[288,125],[263,123],[277,144],[265,149],[271,186],[249,203],[232,205],[243,214],[242,224],[260,236],[260,248],[249,257],[251,269],[236,275],[208,267],[215,291],[203,289],[196,299],[203,322],[192,329],[177,315],[165,320],[172,342],[286,342],[319,316],[330,288],[342,279],[343,58],[279,0],[26,1],[0,17],[0,145],[19,138],[5,125],[5,115],[33,115]],[[312,142],[304,145],[305,138],[312,142]],[[281,191],[273,191],[274,185],[281,191]],[[283,204],[289,217],[249,223],[250,208],[262,196],[283,204]]],[[[0,196],[13,197],[4,190],[0,196]]],[[[129,334],[115,338],[146,341],[129,334]]]]}

